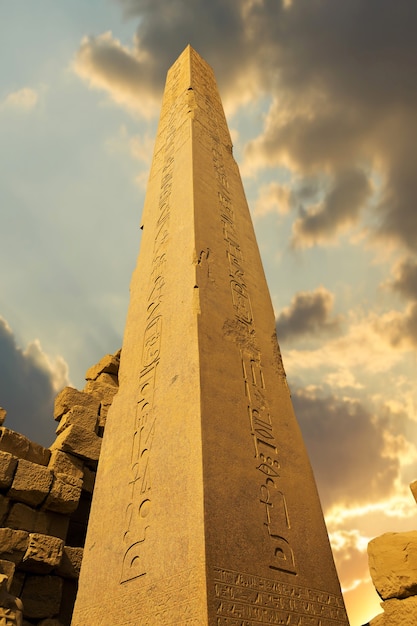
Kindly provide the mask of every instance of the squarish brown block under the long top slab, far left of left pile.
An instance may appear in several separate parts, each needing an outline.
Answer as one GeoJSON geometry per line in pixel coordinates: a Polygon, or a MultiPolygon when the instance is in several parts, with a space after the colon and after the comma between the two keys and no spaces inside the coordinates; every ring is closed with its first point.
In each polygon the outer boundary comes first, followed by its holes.
{"type": "Polygon", "coordinates": [[[38,506],[49,494],[52,476],[47,467],[19,459],[8,496],[12,500],[38,506]]]}

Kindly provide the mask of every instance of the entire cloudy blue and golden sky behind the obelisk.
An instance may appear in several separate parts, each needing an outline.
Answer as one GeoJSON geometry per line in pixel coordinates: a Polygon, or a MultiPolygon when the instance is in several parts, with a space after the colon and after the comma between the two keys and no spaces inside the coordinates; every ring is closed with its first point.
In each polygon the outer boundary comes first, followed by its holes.
{"type": "Polygon", "coordinates": [[[213,67],[351,626],[366,546],[417,506],[414,0],[1,0],[0,405],[122,343],[168,68],[213,67]]]}

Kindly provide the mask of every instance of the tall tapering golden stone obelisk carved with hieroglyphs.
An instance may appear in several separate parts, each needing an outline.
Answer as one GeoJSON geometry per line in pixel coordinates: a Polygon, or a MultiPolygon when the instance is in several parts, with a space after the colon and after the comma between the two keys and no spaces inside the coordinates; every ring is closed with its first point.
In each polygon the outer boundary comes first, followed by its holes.
{"type": "Polygon", "coordinates": [[[73,626],[347,617],[211,68],[168,72],[73,626]]]}

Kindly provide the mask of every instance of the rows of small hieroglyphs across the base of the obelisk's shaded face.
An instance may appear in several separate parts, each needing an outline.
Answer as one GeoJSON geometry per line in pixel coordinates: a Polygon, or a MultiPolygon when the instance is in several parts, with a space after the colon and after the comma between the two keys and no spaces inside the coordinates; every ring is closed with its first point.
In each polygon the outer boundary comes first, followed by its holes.
{"type": "Polygon", "coordinates": [[[218,626],[347,624],[340,597],[324,591],[215,568],[218,626]]]}

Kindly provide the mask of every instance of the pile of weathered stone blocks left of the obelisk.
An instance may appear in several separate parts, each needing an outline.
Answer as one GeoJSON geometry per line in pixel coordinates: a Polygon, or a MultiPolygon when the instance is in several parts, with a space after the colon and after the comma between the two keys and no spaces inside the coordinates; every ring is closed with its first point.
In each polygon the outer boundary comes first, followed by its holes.
{"type": "Polygon", "coordinates": [[[105,356],[87,371],[83,391],[57,395],[50,448],[4,427],[0,408],[0,623],[71,622],[119,361],[120,351],[105,356]]]}

